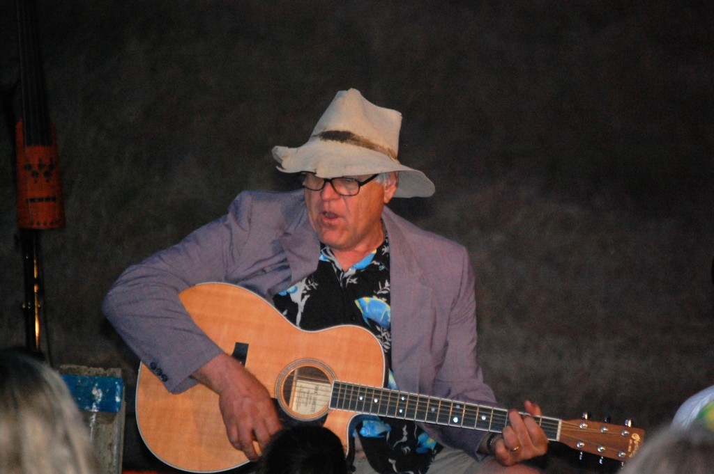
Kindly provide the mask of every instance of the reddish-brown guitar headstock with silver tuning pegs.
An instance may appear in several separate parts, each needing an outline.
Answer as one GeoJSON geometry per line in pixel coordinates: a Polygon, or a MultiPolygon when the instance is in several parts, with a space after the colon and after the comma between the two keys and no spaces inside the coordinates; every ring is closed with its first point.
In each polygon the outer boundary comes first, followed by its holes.
{"type": "Polygon", "coordinates": [[[558,441],[570,448],[626,461],[635,455],[645,439],[645,431],[585,418],[563,420],[558,441]]]}

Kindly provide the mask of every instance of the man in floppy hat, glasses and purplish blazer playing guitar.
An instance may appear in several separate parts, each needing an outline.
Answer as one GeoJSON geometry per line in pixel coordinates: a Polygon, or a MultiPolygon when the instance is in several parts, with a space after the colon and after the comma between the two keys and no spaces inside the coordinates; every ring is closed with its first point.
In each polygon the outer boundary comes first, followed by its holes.
{"type": "MultiPolygon", "coordinates": [[[[106,316],[166,389],[201,383],[218,394],[228,440],[249,460],[281,422],[271,388],[181,303],[181,292],[203,282],[249,289],[306,331],[371,331],[388,388],[496,404],[478,364],[467,250],[386,207],[393,197],[434,192],[426,175],[397,160],[400,128],[396,110],[354,89],[339,92],[307,143],[273,148],[278,169],[301,173],[303,190],[241,192],[227,215],[126,269],[106,296],[106,316]]],[[[523,461],[543,455],[548,439],[534,420],[540,408],[524,408],[508,411],[502,433],[361,416],[353,432],[366,458],[356,456],[356,472],[535,472],[523,461]]]]}

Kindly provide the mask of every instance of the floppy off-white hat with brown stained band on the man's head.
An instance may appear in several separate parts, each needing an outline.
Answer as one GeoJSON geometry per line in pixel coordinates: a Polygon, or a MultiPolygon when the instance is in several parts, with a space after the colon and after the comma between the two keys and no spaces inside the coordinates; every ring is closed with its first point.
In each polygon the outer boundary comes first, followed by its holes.
{"type": "Polygon", "coordinates": [[[283,172],[308,171],[326,178],[397,171],[394,197],[431,196],[434,183],[397,160],[400,128],[398,111],[374,105],[356,89],[339,91],[307,143],[273,147],[273,158],[283,172]]]}

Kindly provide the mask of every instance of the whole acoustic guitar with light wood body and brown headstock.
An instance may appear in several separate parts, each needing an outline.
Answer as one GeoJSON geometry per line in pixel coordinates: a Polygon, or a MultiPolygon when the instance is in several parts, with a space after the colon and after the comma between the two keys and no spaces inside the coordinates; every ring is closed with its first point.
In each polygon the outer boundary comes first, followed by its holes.
{"type": "MultiPolygon", "coordinates": [[[[279,411],[296,423],[323,424],[346,453],[350,421],[358,414],[493,432],[508,423],[502,408],[383,388],[385,359],[367,329],[303,331],[265,299],[232,284],[198,284],[179,297],[208,337],[266,386],[279,411]]],[[[250,462],[228,442],[218,395],[205,386],[174,395],[142,364],[136,418],[149,450],[174,468],[209,473],[250,462]]],[[[534,418],[549,440],[603,458],[628,460],[644,438],[630,426],[534,418]]]]}

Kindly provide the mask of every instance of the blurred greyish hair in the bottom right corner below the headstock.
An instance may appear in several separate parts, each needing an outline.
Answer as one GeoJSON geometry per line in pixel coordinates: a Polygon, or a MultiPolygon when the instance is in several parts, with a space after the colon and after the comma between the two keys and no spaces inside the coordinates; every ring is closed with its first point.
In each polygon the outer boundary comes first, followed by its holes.
{"type": "Polygon", "coordinates": [[[714,431],[698,423],[650,436],[621,474],[714,473],[714,431]]]}

